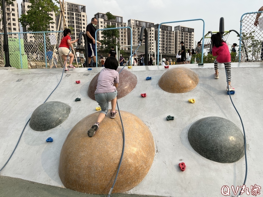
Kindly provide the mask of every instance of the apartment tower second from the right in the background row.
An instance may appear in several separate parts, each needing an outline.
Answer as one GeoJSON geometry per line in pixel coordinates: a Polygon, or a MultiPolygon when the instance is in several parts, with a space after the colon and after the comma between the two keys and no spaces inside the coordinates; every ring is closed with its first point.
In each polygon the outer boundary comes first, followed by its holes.
{"type": "MultiPolygon", "coordinates": [[[[156,40],[156,51],[158,48],[158,27],[159,24],[154,25],[155,39],[156,40]]],[[[159,34],[159,53],[173,54],[174,53],[174,31],[173,27],[169,25],[160,26],[159,34]]]]}

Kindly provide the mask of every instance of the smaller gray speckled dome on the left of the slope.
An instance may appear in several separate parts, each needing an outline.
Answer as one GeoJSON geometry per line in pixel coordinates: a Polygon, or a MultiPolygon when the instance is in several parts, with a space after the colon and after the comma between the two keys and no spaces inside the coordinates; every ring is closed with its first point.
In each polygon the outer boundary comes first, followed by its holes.
{"type": "Polygon", "coordinates": [[[35,131],[47,131],[64,122],[70,112],[70,106],[63,102],[43,103],[32,113],[29,126],[35,131]]]}

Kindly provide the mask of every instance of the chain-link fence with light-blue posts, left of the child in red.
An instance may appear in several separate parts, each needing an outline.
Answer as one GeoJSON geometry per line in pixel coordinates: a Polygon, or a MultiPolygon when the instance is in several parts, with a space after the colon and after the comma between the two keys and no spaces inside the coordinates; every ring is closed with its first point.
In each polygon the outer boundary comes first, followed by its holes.
{"type": "MultiPolygon", "coordinates": [[[[0,34],[0,67],[5,65],[3,34],[0,34]]],[[[63,32],[8,33],[10,65],[21,68],[61,68],[63,59],[58,46],[63,32]]]]}

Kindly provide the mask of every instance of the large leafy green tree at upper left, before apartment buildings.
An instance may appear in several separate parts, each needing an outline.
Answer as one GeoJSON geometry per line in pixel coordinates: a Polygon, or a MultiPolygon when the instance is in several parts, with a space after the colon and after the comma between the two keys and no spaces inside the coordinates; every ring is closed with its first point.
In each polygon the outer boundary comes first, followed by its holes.
{"type": "MultiPolygon", "coordinates": [[[[59,7],[55,4],[57,0],[29,0],[31,6],[27,14],[21,14],[18,21],[23,25],[23,22],[28,23],[28,30],[32,32],[44,32],[49,28],[53,19],[50,17],[50,12],[59,13],[59,7]]],[[[23,25],[24,26],[24,25],[23,25]]]]}

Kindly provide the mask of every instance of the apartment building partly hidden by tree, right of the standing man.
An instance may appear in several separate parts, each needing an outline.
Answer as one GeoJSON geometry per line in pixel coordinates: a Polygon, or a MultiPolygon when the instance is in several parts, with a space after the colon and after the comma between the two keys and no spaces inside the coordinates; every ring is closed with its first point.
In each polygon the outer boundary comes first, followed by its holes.
{"type": "MultiPolygon", "coordinates": [[[[115,27],[127,27],[127,23],[123,22],[123,17],[122,16],[115,16],[115,20],[108,20],[107,19],[107,15],[105,13],[97,13],[94,14],[94,17],[97,18],[98,20],[98,26],[97,29],[105,29],[107,28],[107,25],[114,25],[115,27]]],[[[98,40],[102,40],[102,32],[103,31],[99,31],[98,32],[98,40]]],[[[117,42],[120,44],[120,46],[125,46],[128,45],[127,42],[127,28],[123,28],[123,29],[119,29],[119,35],[120,37],[117,38],[117,42]]],[[[128,50],[127,47],[123,47],[123,50],[128,50]]]]}

